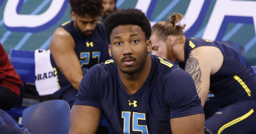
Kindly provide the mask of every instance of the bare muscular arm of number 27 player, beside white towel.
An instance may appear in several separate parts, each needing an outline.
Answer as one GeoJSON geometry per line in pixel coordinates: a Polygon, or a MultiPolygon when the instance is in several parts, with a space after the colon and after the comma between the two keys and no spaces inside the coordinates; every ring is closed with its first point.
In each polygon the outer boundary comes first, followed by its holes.
{"type": "Polygon", "coordinates": [[[49,49],[59,70],[78,90],[83,72],[74,48],[75,43],[72,36],[61,27],[56,29],[52,35],[49,49]]]}

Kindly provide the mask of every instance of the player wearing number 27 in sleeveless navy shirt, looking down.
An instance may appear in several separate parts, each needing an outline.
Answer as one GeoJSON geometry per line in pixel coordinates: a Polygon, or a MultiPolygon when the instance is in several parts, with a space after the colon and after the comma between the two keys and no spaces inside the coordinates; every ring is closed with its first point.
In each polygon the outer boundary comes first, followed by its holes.
{"type": "Polygon", "coordinates": [[[71,108],[83,74],[110,57],[103,24],[98,23],[102,0],[70,0],[69,3],[72,21],[56,29],[49,48],[59,82],[59,91],[52,97],[66,100],[71,108]]]}

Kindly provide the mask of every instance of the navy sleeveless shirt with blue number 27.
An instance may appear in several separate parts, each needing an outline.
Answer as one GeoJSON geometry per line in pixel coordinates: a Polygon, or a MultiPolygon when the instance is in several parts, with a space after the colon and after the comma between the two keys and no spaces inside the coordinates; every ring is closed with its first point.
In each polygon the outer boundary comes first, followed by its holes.
{"type": "MultiPolygon", "coordinates": [[[[105,62],[110,59],[108,54],[108,41],[104,34],[103,24],[97,23],[94,33],[91,36],[84,37],[74,27],[74,21],[69,21],[61,25],[67,32],[69,32],[75,42],[75,49],[77,58],[80,61],[83,74],[93,65],[105,62]]],[[[73,88],[71,83],[65,78],[63,73],[58,69],[52,54],[50,55],[52,66],[55,73],[57,73],[59,91],[54,93],[54,96],[59,96],[61,92],[66,89],[73,88]]],[[[54,97],[58,98],[58,97],[54,97]]]]}

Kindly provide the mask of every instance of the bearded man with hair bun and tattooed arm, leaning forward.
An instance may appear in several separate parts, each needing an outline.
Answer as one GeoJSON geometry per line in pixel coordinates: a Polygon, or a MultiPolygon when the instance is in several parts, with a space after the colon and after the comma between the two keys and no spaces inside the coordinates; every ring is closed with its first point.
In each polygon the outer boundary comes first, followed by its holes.
{"type": "MultiPolygon", "coordinates": [[[[205,126],[213,134],[256,134],[256,74],[236,50],[222,42],[183,35],[183,15],[152,27],[152,54],[188,72],[205,112],[205,126]],[[208,93],[213,97],[208,98],[208,93]]],[[[185,80],[184,83],[186,83],[185,80]]]]}

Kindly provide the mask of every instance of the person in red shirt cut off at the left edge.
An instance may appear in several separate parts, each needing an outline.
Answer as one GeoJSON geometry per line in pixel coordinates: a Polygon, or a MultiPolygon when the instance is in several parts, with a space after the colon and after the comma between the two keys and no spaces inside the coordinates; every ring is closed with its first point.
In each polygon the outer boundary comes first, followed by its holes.
{"type": "Polygon", "coordinates": [[[11,109],[16,105],[22,86],[22,80],[15,72],[4,47],[0,43],[0,109],[11,109]]]}

